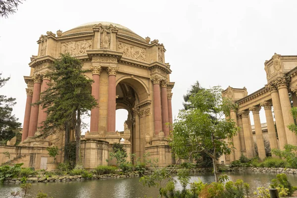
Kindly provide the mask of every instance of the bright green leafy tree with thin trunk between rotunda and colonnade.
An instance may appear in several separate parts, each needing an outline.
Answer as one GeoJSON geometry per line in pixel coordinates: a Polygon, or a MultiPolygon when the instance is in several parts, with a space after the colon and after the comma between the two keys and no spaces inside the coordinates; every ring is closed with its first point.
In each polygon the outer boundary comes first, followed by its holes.
{"type": "Polygon", "coordinates": [[[237,106],[231,99],[222,98],[220,87],[202,89],[188,101],[191,108],[180,110],[173,124],[170,146],[178,158],[190,158],[200,152],[210,156],[215,181],[218,182],[217,153],[230,154],[233,143],[225,140],[238,132],[236,123],[224,115],[230,115],[230,110],[237,106]]]}

